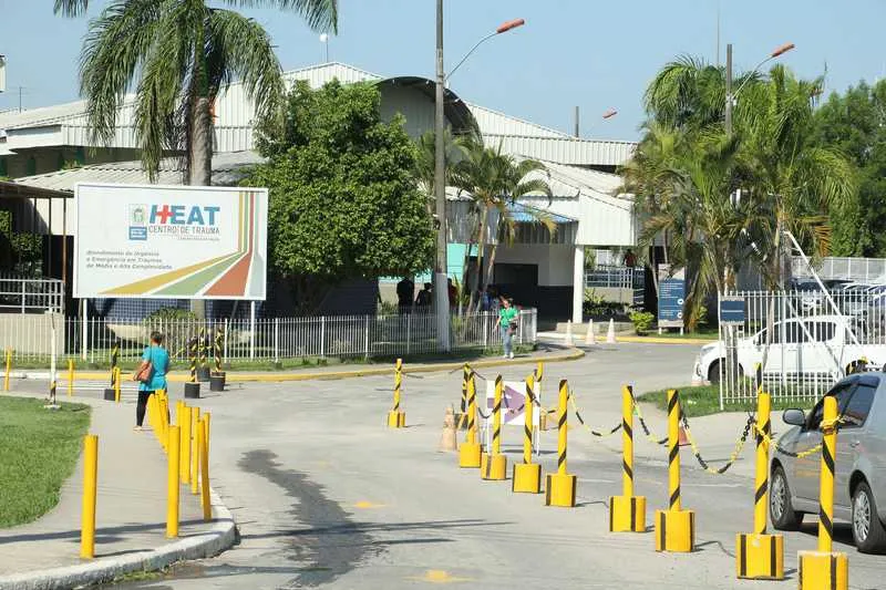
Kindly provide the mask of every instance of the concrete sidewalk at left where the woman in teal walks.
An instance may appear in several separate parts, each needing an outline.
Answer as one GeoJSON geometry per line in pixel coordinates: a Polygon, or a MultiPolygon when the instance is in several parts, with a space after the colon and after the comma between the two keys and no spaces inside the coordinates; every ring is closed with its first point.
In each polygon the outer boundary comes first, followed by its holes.
{"type": "MultiPolygon", "coordinates": [[[[17,390],[17,393],[28,395],[28,390],[34,393],[43,391],[43,384],[20,384],[17,390]]],[[[153,432],[133,432],[134,403],[114,404],[90,397],[60,396],[60,400],[92,406],[90,433],[99,436],[96,558],[83,561],[79,557],[83,489],[81,456],[73,476],[62,487],[59,505],[52,511],[30,525],[0,530],[0,551],[3,555],[0,559],[0,588],[73,588],[95,581],[97,571],[120,575],[144,569],[147,563],[164,567],[181,559],[185,546],[193,549],[213,545],[212,550],[194,555],[214,555],[222,550],[218,534],[227,529],[233,542],[234,524],[229,513],[216,506],[216,521],[204,522],[199,496],[192,495],[189,487],[185,486],[181,487],[179,539],[166,538],[166,455],[153,432]],[[176,555],[179,556],[177,559],[176,555]],[[135,557],[144,560],[140,562],[133,559],[135,557]],[[58,573],[53,573],[55,568],[60,568],[55,570],[58,573]]],[[[174,400],[172,402],[174,404],[174,400]]],[[[107,575],[100,578],[106,579],[107,575]]]]}

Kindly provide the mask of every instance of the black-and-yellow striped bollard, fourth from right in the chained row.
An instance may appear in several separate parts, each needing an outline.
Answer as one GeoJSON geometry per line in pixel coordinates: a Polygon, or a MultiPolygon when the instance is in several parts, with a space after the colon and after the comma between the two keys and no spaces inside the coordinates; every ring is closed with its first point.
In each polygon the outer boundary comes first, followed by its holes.
{"type": "Polygon", "coordinates": [[[633,495],[633,392],[621,387],[621,496],[609,497],[609,532],[646,532],[646,497],[633,495]]]}

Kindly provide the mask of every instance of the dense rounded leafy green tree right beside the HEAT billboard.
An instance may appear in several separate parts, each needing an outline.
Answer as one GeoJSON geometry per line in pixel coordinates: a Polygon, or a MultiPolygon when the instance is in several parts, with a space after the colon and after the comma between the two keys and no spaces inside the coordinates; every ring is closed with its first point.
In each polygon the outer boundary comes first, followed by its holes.
{"type": "Polygon", "coordinates": [[[280,124],[259,130],[269,158],[245,184],[270,189],[269,263],[305,312],[337,282],[426,270],[434,235],[403,121],[381,121],[371,84],[299,82],[280,124]]]}

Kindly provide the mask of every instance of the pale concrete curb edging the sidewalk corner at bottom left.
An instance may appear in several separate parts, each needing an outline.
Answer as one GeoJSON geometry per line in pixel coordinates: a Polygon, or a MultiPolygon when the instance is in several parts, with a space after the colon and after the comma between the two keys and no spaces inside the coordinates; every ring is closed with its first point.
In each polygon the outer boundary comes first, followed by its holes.
{"type": "Polygon", "coordinates": [[[157,571],[176,561],[205,559],[229,549],[236,541],[237,527],[230,510],[209,488],[213,504],[213,527],[151,551],[120,557],[97,558],[89,563],[49,570],[0,576],[0,590],[68,590],[81,586],[110,582],[134,571],[157,571]]]}

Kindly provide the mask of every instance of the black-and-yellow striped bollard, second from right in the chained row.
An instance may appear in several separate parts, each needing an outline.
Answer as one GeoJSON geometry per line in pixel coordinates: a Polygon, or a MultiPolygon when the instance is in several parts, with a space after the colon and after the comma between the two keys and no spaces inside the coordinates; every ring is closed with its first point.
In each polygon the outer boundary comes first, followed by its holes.
{"type": "Polygon", "coordinates": [[[784,579],[784,538],[766,534],[769,509],[769,439],[772,402],[762,387],[756,392],[756,476],[754,477],[754,531],[735,536],[735,572],[754,580],[784,579]]]}

